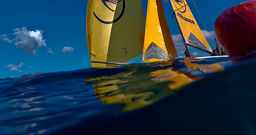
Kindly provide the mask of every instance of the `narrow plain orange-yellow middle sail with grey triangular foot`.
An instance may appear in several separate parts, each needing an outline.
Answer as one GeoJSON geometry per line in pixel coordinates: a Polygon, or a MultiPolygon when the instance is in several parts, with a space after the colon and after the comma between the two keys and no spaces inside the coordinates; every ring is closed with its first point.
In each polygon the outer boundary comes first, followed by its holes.
{"type": "Polygon", "coordinates": [[[163,61],[177,57],[161,0],[148,0],[143,61],[163,61]]]}

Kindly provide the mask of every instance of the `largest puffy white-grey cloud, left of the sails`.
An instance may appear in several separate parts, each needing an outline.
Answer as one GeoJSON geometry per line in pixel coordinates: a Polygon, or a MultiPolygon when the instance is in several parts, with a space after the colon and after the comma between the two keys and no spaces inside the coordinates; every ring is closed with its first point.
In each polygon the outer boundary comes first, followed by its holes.
{"type": "Polygon", "coordinates": [[[36,50],[46,46],[45,40],[42,39],[43,31],[29,31],[26,27],[13,31],[13,35],[16,35],[14,40],[17,48],[22,48],[23,51],[29,52],[31,55],[36,55],[36,50]]]}

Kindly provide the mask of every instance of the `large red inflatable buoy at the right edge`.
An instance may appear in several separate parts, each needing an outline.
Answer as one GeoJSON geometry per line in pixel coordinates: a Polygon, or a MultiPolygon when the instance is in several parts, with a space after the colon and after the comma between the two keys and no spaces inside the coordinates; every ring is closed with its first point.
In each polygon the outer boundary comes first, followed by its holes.
{"type": "Polygon", "coordinates": [[[256,1],[227,9],[214,26],[229,57],[244,56],[256,50],[256,1]]]}

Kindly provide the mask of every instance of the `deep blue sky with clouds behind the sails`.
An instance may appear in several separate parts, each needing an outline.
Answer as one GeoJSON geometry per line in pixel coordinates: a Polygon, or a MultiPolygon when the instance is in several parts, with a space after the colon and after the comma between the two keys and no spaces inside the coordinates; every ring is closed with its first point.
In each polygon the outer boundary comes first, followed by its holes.
{"type": "MultiPolygon", "coordinates": [[[[223,11],[246,2],[194,1],[206,25],[208,39],[214,38],[214,22],[223,11]]],[[[170,32],[173,38],[178,37],[179,30],[176,21],[172,20],[170,4],[168,0],[162,2],[170,32]]],[[[1,0],[0,78],[91,67],[86,39],[87,3],[86,0],[1,0]],[[28,42],[20,42],[25,38],[28,42]]],[[[147,1],[142,0],[142,3],[146,12],[147,1]]],[[[191,4],[189,7],[200,28],[205,30],[195,6],[191,4]]],[[[209,41],[209,44],[214,49],[215,43],[209,41]]],[[[200,51],[194,53],[204,55],[200,51]]]]}

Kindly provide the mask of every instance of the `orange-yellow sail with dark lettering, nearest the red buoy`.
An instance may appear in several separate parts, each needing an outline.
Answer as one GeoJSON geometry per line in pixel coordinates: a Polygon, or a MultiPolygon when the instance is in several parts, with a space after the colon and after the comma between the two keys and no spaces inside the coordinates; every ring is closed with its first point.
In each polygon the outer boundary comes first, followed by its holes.
{"type": "Polygon", "coordinates": [[[181,34],[185,38],[185,42],[194,47],[212,52],[208,42],[206,41],[197,21],[191,13],[185,0],[169,0],[172,4],[175,16],[180,25],[181,34]]]}

